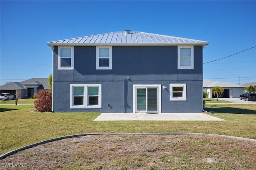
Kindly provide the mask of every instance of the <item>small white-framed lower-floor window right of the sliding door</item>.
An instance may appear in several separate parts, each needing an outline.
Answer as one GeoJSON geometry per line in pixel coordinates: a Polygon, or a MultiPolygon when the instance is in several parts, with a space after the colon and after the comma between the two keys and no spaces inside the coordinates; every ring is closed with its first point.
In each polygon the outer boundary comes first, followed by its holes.
{"type": "Polygon", "coordinates": [[[170,84],[170,101],[186,101],[186,84],[170,84]]]}

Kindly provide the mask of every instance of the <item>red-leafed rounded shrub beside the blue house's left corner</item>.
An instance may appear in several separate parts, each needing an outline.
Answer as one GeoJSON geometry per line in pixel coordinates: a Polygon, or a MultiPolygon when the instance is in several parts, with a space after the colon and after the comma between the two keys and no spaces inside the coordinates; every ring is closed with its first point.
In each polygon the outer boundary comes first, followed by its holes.
{"type": "Polygon", "coordinates": [[[52,111],[52,92],[50,90],[42,90],[37,95],[38,99],[34,101],[36,110],[38,112],[52,111]]]}

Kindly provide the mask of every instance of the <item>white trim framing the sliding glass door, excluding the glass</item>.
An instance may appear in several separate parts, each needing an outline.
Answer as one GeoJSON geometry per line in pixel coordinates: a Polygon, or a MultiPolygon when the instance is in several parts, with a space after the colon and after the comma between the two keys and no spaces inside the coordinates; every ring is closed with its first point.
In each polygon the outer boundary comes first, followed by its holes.
{"type": "Polygon", "coordinates": [[[161,95],[161,85],[133,85],[132,88],[132,112],[133,113],[137,113],[136,112],[136,101],[137,101],[137,97],[136,97],[136,89],[137,88],[146,88],[146,87],[156,87],[158,88],[158,113],[162,113],[162,95],[161,95]]]}

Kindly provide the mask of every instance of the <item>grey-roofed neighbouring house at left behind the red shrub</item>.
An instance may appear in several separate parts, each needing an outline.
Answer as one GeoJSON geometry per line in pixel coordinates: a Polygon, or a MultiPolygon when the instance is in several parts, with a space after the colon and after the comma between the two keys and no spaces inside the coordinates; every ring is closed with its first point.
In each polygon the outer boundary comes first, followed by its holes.
{"type": "Polygon", "coordinates": [[[15,93],[20,93],[19,98],[24,99],[32,97],[36,92],[41,90],[48,90],[50,86],[48,84],[48,78],[33,78],[22,82],[12,82],[6,85],[0,86],[1,93],[11,93],[16,96],[15,93]]]}

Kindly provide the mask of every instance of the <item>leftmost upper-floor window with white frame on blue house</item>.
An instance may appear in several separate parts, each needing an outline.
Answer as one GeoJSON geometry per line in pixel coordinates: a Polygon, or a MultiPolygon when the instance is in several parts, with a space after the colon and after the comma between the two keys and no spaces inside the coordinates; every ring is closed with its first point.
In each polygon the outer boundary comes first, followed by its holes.
{"type": "Polygon", "coordinates": [[[58,47],[58,69],[74,69],[74,47],[58,47]]]}

